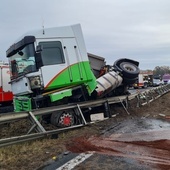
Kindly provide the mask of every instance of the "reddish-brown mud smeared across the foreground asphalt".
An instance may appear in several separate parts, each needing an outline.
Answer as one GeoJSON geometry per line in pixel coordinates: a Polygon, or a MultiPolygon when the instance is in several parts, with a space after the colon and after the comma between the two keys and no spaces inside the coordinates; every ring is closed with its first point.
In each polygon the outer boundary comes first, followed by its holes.
{"type": "MultiPolygon", "coordinates": [[[[148,134],[145,133],[145,135],[148,134]]],[[[133,141],[133,137],[130,135],[129,140],[127,134],[123,137],[124,140],[116,139],[114,137],[91,137],[88,139],[80,137],[74,139],[67,146],[67,149],[74,153],[95,151],[98,154],[131,158],[149,166],[151,169],[170,169],[169,139],[162,139],[161,137],[160,140],[151,140],[150,138],[149,141],[136,141],[136,139],[133,141]],[[128,142],[125,140],[126,138],[128,138],[128,142]]]]}

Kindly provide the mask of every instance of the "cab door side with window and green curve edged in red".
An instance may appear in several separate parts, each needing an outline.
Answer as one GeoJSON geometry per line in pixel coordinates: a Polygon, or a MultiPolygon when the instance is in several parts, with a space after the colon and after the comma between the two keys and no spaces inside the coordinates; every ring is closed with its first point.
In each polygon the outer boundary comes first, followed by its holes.
{"type": "Polygon", "coordinates": [[[44,87],[47,90],[75,85],[82,80],[82,61],[75,38],[46,39],[42,46],[44,87]]]}

